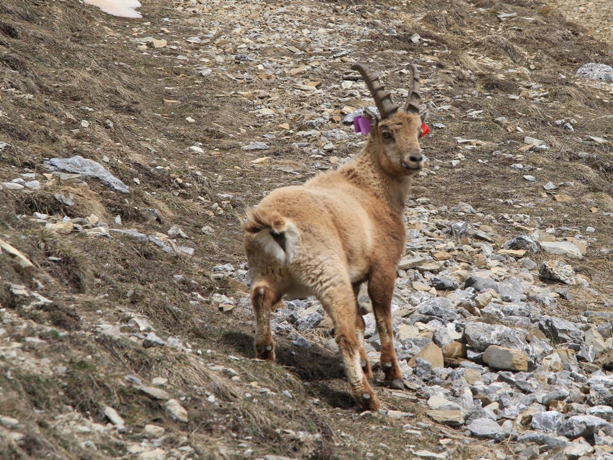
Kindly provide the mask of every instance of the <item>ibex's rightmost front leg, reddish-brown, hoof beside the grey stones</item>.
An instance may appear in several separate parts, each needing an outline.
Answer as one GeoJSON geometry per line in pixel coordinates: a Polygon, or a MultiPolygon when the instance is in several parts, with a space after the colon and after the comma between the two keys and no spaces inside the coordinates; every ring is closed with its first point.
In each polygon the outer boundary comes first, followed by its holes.
{"type": "Polygon", "coordinates": [[[379,339],[381,339],[381,367],[390,386],[405,388],[402,372],[394,349],[392,329],[392,294],[394,293],[395,267],[393,271],[375,269],[368,280],[368,296],[373,302],[373,311],[379,339]]]}

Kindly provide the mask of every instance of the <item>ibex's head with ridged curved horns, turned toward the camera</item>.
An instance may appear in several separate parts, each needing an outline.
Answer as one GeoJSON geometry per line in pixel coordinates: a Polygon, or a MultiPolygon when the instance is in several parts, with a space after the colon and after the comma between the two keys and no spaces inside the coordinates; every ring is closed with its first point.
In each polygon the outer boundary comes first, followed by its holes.
{"type": "Polygon", "coordinates": [[[411,86],[403,109],[394,104],[379,77],[362,64],[351,68],[360,72],[370,94],[375,99],[379,117],[370,111],[365,116],[373,120],[371,136],[379,145],[379,162],[387,174],[394,176],[414,175],[424,166],[424,157],[419,148],[422,135],[422,123],[428,116],[428,110],[419,110],[419,72],[413,64],[411,69],[411,86]]]}

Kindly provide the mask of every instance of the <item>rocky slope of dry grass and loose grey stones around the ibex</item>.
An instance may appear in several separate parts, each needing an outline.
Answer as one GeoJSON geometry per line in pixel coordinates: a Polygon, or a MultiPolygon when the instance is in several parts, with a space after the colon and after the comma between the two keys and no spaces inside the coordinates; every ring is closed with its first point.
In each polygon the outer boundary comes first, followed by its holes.
{"type": "Polygon", "coordinates": [[[3,458],[612,458],[613,85],[577,76],[613,63],[606,15],[140,12],[0,4],[3,458]],[[238,226],[359,150],[355,61],[397,99],[419,65],[432,127],[394,297],[408,389],[361,414],[317,302],[280,305],[279,362],[253,359],[238,226]]]}

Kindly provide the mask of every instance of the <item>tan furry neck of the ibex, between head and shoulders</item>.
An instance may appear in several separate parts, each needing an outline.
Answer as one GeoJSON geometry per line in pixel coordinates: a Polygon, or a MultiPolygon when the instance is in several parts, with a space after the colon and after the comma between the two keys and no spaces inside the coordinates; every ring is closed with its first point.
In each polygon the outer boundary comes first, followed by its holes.
{"type": "Polygon", "coordinates": [[[376,140],[369,137],[368,143],[362,148],[354,161],[346,166],[346,171],[352,171],[353,173],[347,177],[371,191],[382,201],[389,203],[395,212],[402,213],[405,209],[413,178],[395,177],[383,171],[379,163],[378,148],[376,140]]]}

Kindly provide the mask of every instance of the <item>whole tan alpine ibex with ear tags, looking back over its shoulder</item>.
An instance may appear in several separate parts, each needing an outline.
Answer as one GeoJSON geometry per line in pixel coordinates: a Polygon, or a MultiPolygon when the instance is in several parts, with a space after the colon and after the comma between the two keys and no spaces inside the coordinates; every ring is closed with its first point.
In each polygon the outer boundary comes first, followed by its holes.
{"type": "Polygon", "coordinates": [[[273,190],[247,210],[243,228],[257,358],[275,361],[270,312],[281,297],[315,296],[332,318],[352,394],[362,407],[374,410],[381,403],[371,387],[357,293],[368,282],[381,338],[381,367],[393,388],[404,388],[390,304],[405,248],[405,202],[424,163],[419,138],[427,110],[419,110],[415,66],[403,109],[367,67],[351,68],[360,72],[379,110],[379,116],[366,113],[373,126],[365,147],[337,171],[273,190]]]}

